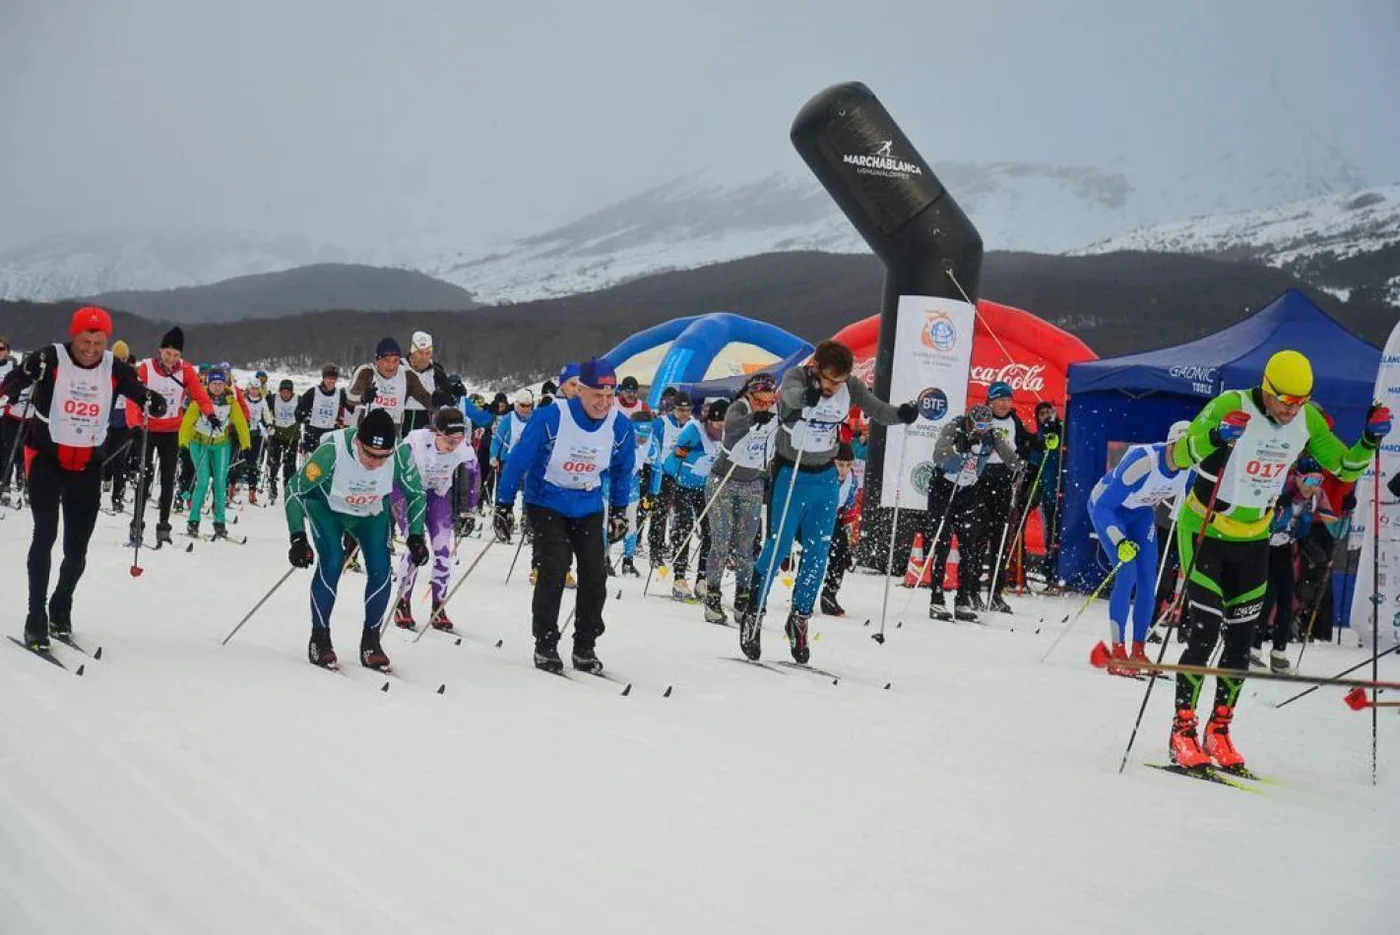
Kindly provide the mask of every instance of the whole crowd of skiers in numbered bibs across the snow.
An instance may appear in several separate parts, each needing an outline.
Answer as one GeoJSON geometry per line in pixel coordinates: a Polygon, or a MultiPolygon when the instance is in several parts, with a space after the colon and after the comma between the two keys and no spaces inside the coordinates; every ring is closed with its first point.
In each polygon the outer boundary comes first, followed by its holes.
{"type": "MultiPolygon", "coordinates": [[[[434,361],[431,336],[417,332],[407,356],[385,337],[347,386],[339,367],[326,364],[321,382],[297,393],[291,381],[269,389],[262,371],[239,386],[227,363],[185,361],[179,328],[140,361],[122,342],[109,347],[111,332],[105,311],[84,307],[67,342],[18,364],[0,340],[0,495],[22,486],[34,514],[25,644],[41,652],[50,633],[71,630],[73,592],[104,490],[111,509],[122,512],[134,488],[129,544],[140,549],[158,486],[154,547],[172,542],[172,512],[185,514],[186,535],[199,536],[207,500],[211,537],[227,539],[228,504],[239,488],[251,504],[260,495],[273,505],[283,494],[288,561],[316,565],[308,642],[316,665],[337,665],[330,613],[349,568],[361,570],[367,584],[361,665],[389,666],[381,627],[391,612],[398,626],[417,627],[410,595],[417,568],[430,561],[427,623],[451,630],[452,553],[487,508],[496,542],[519,533],[518,547],[531,544],[540,669],[564,666],[560,602],[575,586],[571,665],[602,670],[606,578],[641,577],[643,560],[648,589],[659,578],[671,598],[701,605],[715,624],[728,624],[732,612],[739,648],[753,661],[762,656],[774,581],[790,575],[783,633],[794,661],[806,663],[812,613],[843,613],[867,420],[907,426],[920,417],[914,402],[878,399],[853,377],[851,351],[837,342],[820,343],[808,363],[780,377],[753,374],[734,399],[696,400],[668,388],[652,412],[638,381],[619,379],[603,358],[566,364],[538,396],[519,389],[487,402],[468,395],[434,361]],[[60,514],[63,561],[50,592],[60,514]],[[405,546],[398,574],[395,532],[405,546]]],[[[1350,484],[1390,430],[1389,410],[1373,406],[1362,438],[1344,445],[1310,399],[1312,382],[1308,360],[1281,351],[1259,386],[1222,393],[1159,444],[1128,448],[1095,486],[1091,518],[1112,567],[1110,672],[1133,675],[1147,665],[1152,624],[1173,613],[1183,663],[1207,663],[1219,644],[1219,665],[1243,672],[1252,648],[1270,640],[1271,666],[1287,670],[1284,648],[1301,635],[1298,610],[1310,628],[1322,599],[1315,571],[1331,565],[1333,543],[1345,539],[1355,502],[1350,484]],[[1298,586],[1299,568],[1313,591],[1298,586]]],[[[1004,591],[1023,574],[1014,556],[1022,554],[1032,511],[1046,529],[1046,586],[1056,586],[1063,434],[1050,403],[1037,406],[1026,427],[1005,384],[948,419],[920,529],[930,542],[923,571],[937,585],[931,617],[970,621],[983,610],[1011,612],[1004,591]],[[941,582],[953,536],[960,561],[949,612],[941,582]]],[[[1204,745],[1196,719],[1203,682],[1177,677],[1173,761],[1242,766],[1229,738],[1242,679],[1217,680],[1204,745]]]]}

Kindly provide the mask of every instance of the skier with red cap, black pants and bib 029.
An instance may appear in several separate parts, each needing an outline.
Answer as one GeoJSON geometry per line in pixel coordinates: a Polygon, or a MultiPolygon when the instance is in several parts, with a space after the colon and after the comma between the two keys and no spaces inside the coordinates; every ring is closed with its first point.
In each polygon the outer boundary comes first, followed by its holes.
{"type": "Polygon", "coordinates": [[[87,546],[102,502],[102,442],[111,423],[113,399],[120,395],[160,419],[165,399],[148,391],[126,361],[116,360],[106,342],[112,318],[95,305],[73,312],[69,339],[25,357],[6,377],[0,392],[15,396],[32,388],[24,458],[29,476],[29,509],[34,539],[29,543],[29,612],[24,620],[24,645],[49,651],[49,631],[59,638],[73,633],[73,592],[87,567],[87,546]],[[53,543],[63,511],[63,563],[59,582],[49,595],[53,543]]]}

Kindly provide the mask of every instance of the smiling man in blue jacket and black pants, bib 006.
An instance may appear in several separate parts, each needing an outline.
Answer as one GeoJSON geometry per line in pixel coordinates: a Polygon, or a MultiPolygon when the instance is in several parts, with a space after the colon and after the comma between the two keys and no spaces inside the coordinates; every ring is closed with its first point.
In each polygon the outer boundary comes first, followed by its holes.
{"type": "Polygon", "coordinates": [[[535,666],[561,672],[559,602],[571,558],[578,561],[575,669],[601,673],[595,642],[603,633],[608,598],[606,546],[627,535],[627,497],[637,444],[631,421],[613,409],[617,374],[606,358],[584,361],[577,392],[535,413],[525,426],[497,486],[496,530],[510,539],[515,491],[524,484],[525,512],[535,530],[539,577],[532,600],[535,666]],[[603,505],[612,507],[603,529],[603,505]]]}

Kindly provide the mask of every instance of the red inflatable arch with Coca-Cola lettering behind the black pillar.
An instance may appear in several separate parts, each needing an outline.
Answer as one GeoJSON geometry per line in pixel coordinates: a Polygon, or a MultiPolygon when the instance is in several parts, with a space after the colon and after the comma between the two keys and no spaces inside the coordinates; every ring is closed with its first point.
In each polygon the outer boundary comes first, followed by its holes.
{"type": "MultiPolygon", "coordinates": [[[[874,385],[879,315],[847,325],[833,337],[855,353],[855,374],[874,385]]],[[[1011,384],[1016,412],[1028,427],[1035,423],[1036,403],[1042,400],[1054,403],[1063,417],[1070,364],[1098,358],[1078,337],[1025,309],[977,300],[967,405],[986,402],[987,386],[1005,381],[1011,384]]],[[[1042,542],[1037,511],[1026,529],[1026,547],[1043,551],[1042,542]]]]}

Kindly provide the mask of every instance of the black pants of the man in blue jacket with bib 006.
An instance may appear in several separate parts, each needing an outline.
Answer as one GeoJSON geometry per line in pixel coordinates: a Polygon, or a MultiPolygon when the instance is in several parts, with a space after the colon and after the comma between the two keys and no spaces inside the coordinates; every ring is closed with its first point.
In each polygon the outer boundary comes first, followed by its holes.
{"type": "Polygon", "coordinates": [[[608,567],[603,554],[603,514],[564,516],[546,507],[525,505],[535,529],[539,578],[531,603],[535,642],[559,642],[559,603],[571,558],[578,560],[578,599],[574,605],[574,648],[592,648],[603,633],[603,602],[608,599],[608,567]]]}

